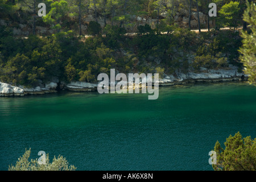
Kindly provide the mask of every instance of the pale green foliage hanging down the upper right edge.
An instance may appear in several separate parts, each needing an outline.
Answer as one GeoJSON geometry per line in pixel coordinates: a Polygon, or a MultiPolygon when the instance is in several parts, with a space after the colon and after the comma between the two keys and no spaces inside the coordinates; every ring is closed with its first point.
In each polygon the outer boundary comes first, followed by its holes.
{"type": "Polygon", "coordinates": [[[247,9],[243,14],[243,19],[251,24],[250,31],[242,31],[242,53],[240,59],[245,66],[245,73],[250,75],[251,84],[256,84],[256,5],[247,2],[247,9]]]}

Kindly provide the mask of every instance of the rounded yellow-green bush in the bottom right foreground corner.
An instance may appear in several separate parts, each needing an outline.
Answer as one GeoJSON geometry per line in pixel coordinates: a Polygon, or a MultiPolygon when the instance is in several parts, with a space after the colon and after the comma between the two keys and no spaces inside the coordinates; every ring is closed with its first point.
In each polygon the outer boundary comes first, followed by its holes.
{"type": "Polygon", "coordinates": [[[242,138],[238,132],[226,139],[225,150],[217,141],[214,151],[217,154],[217,164],[212,167],[215,171],[255,171],[256,170],[256,138],[242,138]]]}

